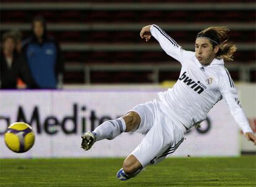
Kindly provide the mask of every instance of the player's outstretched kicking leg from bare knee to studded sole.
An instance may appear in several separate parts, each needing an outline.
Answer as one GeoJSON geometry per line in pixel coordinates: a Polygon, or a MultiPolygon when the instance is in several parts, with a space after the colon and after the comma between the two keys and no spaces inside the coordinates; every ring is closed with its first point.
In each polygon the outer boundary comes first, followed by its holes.
{"type": "Polygon", "coordinates": [[[103,139],[112,140],[122,132],[135,131],[140,124],[140,116],[135,111],[130,111],[125,116],[118,119],[108,120],[96,127],[93,132],[85,132],[82,134],[82,148],[88,150],[95,141],[103,139]]]}

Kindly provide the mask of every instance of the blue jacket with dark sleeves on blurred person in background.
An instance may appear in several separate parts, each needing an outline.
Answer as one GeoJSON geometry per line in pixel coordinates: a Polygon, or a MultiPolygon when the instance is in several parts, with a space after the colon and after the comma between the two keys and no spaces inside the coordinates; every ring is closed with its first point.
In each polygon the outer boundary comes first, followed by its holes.
{"type": "Polygon", "coordinates": [[[39,43],[32,37],[25,41],[23,55],[38,87],[56,89],[58,74],[63,71],[58,44],[53,39],[44,39],[39,43]]]}

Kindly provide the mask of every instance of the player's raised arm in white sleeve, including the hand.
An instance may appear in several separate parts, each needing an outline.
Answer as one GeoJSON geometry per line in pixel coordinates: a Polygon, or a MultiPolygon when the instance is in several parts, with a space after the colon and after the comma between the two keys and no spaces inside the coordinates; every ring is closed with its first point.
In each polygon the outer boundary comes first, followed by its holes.
{"type": "Polygon", "coordinates": [[[160,44],[164,52],[169,56],[175,58],[179,62],[183,62],[184,53],[186,50],[183,50],[173,38],[168,36],[159,26],[157,25],[148,25],[144,26],[140,31],[140,38],[149,41],[151,36],[153,36],[160,44]]]}

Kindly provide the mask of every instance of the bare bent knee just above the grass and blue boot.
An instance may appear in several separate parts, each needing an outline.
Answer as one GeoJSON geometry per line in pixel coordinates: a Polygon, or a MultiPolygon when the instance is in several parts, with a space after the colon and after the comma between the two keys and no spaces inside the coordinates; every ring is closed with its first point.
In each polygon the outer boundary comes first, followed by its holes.
{"type": "Polygon", "coordinates": [[[127,157],[127,159],[124,160],[122,168],[127,174],[133,174],[138,170],[142,169],[142,165],[135,156],[130,155],[129,157],[127,157]]]}

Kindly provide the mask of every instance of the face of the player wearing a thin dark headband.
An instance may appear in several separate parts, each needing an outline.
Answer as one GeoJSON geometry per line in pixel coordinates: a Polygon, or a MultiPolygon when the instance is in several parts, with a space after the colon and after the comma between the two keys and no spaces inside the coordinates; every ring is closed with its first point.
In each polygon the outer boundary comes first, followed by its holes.
{"type": "Polygon", "coordinates": [[[213,49],[213,45],[207,38],[197,38],[195,40],[195,57],[202,65],[210,65],[218,50],[213,49]]]}

